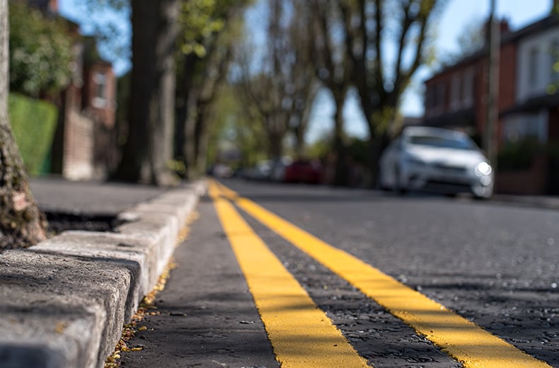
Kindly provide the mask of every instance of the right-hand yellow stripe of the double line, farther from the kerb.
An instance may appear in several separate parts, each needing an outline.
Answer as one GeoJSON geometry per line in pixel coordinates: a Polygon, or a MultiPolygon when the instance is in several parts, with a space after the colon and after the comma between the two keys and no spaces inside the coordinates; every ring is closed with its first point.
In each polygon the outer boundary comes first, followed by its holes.
{"type": "Polygon", "coordinates": [[[464,367],[550,367],[362,260],[239,197],[224,185],[219,188],[248,214],[386,307],[451,357],[463,362],[464,367]]]}

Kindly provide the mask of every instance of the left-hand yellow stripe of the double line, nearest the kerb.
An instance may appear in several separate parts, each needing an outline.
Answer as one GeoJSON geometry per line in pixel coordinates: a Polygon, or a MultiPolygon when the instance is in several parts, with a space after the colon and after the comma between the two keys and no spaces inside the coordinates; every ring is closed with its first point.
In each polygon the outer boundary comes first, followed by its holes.
{"type": "Polygon", "coordinates": [[[214,183],[209,195],[282,367],[368,367],[214,183]]]}

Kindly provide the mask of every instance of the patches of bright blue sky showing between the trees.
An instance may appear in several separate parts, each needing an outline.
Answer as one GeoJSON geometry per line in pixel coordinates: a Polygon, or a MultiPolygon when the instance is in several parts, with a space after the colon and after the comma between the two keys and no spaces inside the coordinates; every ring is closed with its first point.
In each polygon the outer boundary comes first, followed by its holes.
{"type": "MultiPolygon", "coordinates": [[[[86,18],[83,9],[76,6],[79,0],[59,0],[59,11],[63,16],[81,23],[86,18]]],[[[497,16],[507,18],[512,30],[517,30],[534,23],[548,15],[553,0],[496,0],[497,16]]],[[[456,40],[466,27],[475,21],[483,21],[489,15],[490,0],[446,0],[437,24],[435,47],[438,55],[459,50],[456,40]]],[[[122,74],[129,67],[128,62],[117,62],[117,74],[122,74]]],[[[432,71],[423,68],[417,72],[412,86],[405,93],[402,110],[404,115],[421,116],[423,114],[422,81],[429,78],[432,71]]],[[[320,93],[311,117],[311,126],[307,133],[309,140],[318,138],[333,126],[332,108],[328,93],[320,93]]],[[[366,137],[367,129],[359,111],[357,98],[348,98],[344,115],[346,130],[349,134],[366,137]]]]}

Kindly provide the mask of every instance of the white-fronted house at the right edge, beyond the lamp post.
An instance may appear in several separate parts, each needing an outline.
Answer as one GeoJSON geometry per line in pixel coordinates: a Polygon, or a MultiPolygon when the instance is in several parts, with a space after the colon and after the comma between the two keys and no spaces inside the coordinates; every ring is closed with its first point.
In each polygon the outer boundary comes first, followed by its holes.
{"type": "MultiPolygon", "coordinates": [[[[501,111],[502,142],[533,142],[531,165],[501,174],[502,191],[559,194],[559,18],[549,16],[518,32],[514,105],[501,111]]],[[[525,154],[531,154],[525,151],[525,154]]]]}

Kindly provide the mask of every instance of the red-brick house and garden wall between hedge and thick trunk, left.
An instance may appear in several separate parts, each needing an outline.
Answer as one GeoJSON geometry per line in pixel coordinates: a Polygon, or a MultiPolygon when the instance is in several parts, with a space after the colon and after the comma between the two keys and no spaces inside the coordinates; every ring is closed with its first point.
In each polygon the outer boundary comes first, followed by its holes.
{"type": "MultiPolygon", "coordinates": [[[[57,0],[28,0],[48,16],[57,16],[57,0]]],[[[52,144],[52,173],[70,180],[103,179],[117,165],[115,130],[116,76],[101,59],[95,38],[76,36],[74,74],[59,98],[57,131],[52,144]]]]}

